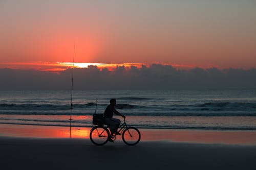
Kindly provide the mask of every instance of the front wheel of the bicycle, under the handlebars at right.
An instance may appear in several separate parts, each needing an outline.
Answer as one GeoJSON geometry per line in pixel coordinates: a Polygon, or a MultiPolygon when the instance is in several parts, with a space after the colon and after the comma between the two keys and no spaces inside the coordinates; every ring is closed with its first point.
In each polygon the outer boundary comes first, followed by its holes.
{"type": "Polygon", "coordinates": [[[140,141],[140,131],[137,128],[127,128],[122,133],[122,139],[125,144],[135,145],[140,141]]]}

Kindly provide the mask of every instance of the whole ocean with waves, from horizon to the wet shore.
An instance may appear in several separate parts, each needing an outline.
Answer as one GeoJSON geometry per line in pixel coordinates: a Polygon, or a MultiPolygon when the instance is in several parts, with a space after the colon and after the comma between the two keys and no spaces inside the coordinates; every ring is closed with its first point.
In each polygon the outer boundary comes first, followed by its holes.
{"type": "MultiPolygon", "coordinates": [[[[256,89],[74,90],[71,126],[92,127],[111,98],[137,128],[256,130],[256,89]]],[[[0,91],[0,123],[70,126],[70,104],[71,91],[0,91]]]]}

